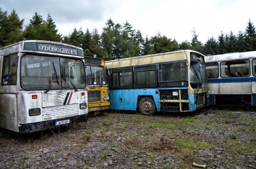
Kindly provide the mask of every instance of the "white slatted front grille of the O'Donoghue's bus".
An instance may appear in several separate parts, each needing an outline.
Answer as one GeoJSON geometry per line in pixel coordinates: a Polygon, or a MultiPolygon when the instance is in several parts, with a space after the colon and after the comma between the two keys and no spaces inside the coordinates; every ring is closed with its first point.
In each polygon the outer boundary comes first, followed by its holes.
{"type": "Polygon", "coordinates": [[[69,117],[70,115],[78,115],[79,114],[79,105],[71,104],[71,105],[60,105],[60,106],[51,106],[42,108],[42,117],[54,117],[58,115],[69,117]]]}

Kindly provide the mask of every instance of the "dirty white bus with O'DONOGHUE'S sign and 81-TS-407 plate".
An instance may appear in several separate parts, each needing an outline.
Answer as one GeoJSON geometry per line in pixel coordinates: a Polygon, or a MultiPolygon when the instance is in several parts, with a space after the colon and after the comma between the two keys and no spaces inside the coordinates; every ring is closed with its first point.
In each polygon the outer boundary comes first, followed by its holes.
{"type": "Polygon", "coordinates": [[[24,40],[0,48],[0,127],[36,132],[88,119],[83,49],[24,40]]]}

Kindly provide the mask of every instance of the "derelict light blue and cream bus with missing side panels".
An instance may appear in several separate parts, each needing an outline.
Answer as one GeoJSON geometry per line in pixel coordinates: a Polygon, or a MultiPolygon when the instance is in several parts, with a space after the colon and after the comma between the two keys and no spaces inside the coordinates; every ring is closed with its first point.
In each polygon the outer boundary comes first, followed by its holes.
{"type": "Polygon", "coordinates": [[[208,105],[204,55],[180,50],[106,61],[110,106],[144,115],[208,105]]]}

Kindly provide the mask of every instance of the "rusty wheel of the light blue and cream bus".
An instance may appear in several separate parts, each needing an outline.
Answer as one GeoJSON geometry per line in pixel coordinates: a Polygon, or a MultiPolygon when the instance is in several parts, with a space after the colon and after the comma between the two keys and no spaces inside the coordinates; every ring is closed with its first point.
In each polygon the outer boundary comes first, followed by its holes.
{"type": "Polygon", "coordinates": [[[153,115],[156,111],[155,102],[150,97],[144,97],[139,101],[139,111],[144,115],[153,115]]]}

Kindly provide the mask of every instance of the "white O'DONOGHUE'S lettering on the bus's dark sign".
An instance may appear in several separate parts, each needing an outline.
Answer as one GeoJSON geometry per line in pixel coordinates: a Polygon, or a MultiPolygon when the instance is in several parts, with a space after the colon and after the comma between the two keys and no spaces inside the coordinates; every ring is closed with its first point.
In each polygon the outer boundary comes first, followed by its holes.
{"type": "Polygon", "coordinates": [[[71,55],[77,55],[76,49],[68,49],[64,47],[48,46],[40,44],[38,46],[39,50],[45,52],[57,52],[57,53],[66,53],[71,55]]]}

